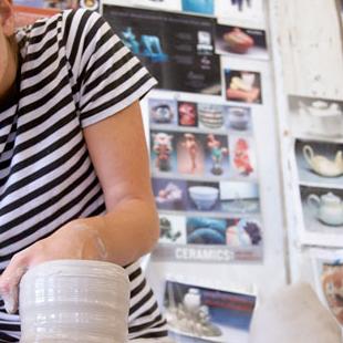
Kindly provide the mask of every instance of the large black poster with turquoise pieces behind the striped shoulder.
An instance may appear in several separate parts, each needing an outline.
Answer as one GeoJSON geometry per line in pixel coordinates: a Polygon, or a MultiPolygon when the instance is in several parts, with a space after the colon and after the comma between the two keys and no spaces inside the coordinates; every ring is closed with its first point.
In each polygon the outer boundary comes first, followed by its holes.
{"type": "Polygon", "coordinates": [[[215,19],[110,4],[103,14],[159,89],[221,94],[215,19]]]}

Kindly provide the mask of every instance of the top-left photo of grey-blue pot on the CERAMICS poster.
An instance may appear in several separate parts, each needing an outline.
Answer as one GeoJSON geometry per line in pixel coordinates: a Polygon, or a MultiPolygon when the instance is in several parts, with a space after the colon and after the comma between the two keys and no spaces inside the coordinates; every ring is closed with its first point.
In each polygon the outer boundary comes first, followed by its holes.
{"type": "Polygon", "coordinates": [[[177,125],[177,103],[174,100],[148,98],[149,122],[163,125],[177,125]]]}

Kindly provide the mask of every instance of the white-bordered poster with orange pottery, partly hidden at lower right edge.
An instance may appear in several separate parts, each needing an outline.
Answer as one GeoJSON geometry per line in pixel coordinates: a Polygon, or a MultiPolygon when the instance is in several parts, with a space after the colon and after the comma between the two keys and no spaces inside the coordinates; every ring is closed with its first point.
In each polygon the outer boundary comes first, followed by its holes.
{"type": "Polygon", "coordinates": [[[343,250],[316,249],[312,268],[321,301],[343,329],[343,250]]]}

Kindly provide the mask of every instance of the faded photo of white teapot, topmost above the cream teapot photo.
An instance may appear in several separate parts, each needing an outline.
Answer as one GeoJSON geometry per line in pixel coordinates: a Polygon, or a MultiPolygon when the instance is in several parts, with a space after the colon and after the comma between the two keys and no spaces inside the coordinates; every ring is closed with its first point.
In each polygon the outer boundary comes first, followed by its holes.
{"type": "Polygon", "coordinates": [[[295,135],[340,138],[343,136],[343,102],[289,96],[290,124],[295,135]]]}

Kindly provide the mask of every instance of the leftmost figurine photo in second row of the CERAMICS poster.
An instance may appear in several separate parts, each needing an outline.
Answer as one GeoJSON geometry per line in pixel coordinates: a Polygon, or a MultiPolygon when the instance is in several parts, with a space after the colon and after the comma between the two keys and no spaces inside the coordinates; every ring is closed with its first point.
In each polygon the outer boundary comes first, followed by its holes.
{"type": "Polygon", "coordinates": [[[153,172],[176,172],[176,148],[173,132],[150,131],[150,160],[153,172]]]}

